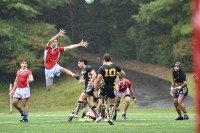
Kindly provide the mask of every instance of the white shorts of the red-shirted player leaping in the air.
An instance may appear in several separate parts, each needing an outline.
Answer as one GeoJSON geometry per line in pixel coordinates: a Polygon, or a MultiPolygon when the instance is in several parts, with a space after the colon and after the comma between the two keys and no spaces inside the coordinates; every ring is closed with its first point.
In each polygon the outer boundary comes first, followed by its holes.
{"type": "Polygon", "coordinates": [[[53,78],[54,76],[60,76],[61,66],[59,64],[56,64],[53,68],[47,69],[45,68],[45,78],[46,78],[46,86],[50,86],[53,84],[53,78]]]}

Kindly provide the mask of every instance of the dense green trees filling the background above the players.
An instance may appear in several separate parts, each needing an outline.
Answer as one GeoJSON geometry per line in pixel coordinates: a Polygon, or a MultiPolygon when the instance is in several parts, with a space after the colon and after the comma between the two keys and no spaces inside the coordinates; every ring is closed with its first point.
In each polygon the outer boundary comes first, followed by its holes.
{"type": "MultiPolygon", "coordinates": [[[[84,39],[87,52],[165,66],[181,61],[191,71],[190,6],[189,0],[1,0],[0,75],[14,73],[24,57],[43,72],[44,46],[60,28],[65,45],[84,39]]],[[[74,56],[64,54],[61,64],[74,56]]]]}

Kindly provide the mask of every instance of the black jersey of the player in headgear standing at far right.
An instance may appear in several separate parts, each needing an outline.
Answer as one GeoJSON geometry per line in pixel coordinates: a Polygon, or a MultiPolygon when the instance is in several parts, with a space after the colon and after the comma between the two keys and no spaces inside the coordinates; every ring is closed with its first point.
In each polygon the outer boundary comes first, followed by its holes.
{"type": "Polygon", "coordinates": [[[180,71],[173,71],[173,81],[175,83],[183,83],[186,81],[186,75],[185,72],[180,70],[180,71]]]}

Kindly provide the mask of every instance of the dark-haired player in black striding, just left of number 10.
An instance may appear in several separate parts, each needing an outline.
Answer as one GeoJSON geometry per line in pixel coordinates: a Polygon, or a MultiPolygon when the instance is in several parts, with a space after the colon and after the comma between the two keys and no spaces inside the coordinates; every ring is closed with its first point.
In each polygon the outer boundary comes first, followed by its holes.
{"type": "Polygon", "coordinates": [[[85,84],[85,88],[83,90],[83,92],[81,93],[79,99],[78,99],[78,104],[76,109],[74,110],[74,112],[72,112],[71,115],[69,115],[69,119],[68,121],[71,121],[72,118],[78,118],[78,113],[80,111],[80,109],[83,106],[83,102],[85,99],[88,99],[88,103],[92,109],[92,111],[94,112],[94,114],[98,117],[97,113],[96,113],[96,106],[94,106],[94,80],[96,79],[96,72],[95,70],[87,64],[87,60],[86,59],[80,59],[78,61],[78,66],[82,69],[81,73],[83,75],[83,79],[80,79],[80,83],[85,84]]]}

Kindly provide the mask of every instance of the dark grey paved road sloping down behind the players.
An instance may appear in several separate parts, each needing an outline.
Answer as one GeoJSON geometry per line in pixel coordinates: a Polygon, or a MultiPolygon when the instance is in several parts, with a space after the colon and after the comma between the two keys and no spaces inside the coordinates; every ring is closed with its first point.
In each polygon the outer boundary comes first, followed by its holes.
{"type": "MultiPolygon", "coordinates": [[[[78,59],[77,59],[78,60],[78,59]]],[[[69,67],[74,70],[79,70],[77,60],[69,63],[69,67]]],[[[101,64],[89,62],[97,71],[101,64]]],[[[135,96],[137,98],[138,108],[171,108],[173,107],[173,98],[169,94],[171,83],[169,81],[147,75],[144,73],[124,69],[127,78],[133,83],[135,96]]],[[[185,99],[187,107],[194,106],[192,97],[188,96],[185,99]]]]}

